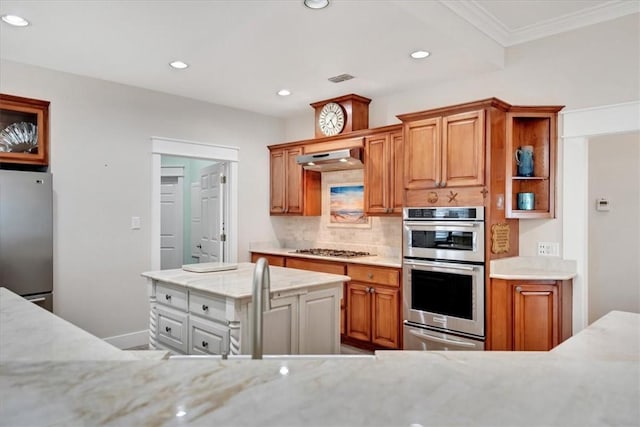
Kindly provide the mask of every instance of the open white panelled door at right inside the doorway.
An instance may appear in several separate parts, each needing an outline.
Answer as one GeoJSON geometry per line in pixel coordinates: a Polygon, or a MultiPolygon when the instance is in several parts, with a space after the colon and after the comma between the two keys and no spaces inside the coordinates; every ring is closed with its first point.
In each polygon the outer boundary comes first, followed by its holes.
{"type": "Polygon", "coordinates": [[[225,258],[226,163],[200,170],[201,234],[200,262],[221,262],[225,258]]]}

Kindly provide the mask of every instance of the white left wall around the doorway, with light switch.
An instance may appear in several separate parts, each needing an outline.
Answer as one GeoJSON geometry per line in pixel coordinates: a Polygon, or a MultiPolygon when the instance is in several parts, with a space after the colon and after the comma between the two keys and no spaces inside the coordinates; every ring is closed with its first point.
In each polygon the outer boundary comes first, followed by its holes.
{"type": "Polygon", "coordinates": [[[280,120],[186,98],[2,61],[2,93],[50,107],[54,190],[54,310],[99,336],[148,327],[151,136],[240,149],[239,260],[273,240],[266,145],[280,120]],[[247,126],[251,123],[251,126],[247,126]],[[130,230],[131,216],[142,218],[130,230]]]}

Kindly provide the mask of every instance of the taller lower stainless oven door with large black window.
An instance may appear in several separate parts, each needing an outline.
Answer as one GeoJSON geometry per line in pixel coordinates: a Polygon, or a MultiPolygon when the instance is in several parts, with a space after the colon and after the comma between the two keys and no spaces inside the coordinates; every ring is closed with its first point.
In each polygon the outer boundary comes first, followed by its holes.
{"type": "Polygon", "coordinates": [[[484,338],[484,265],[405,259],[404,319],[484,338]]]}

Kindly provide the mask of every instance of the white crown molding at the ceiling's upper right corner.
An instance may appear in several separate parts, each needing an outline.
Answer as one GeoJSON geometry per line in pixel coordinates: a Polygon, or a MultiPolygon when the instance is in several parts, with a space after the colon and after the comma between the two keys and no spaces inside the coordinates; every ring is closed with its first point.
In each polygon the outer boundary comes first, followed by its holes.
{"type": "Polygon", "coordinates": [[[576,13],[510,29],[475,0],[466,2],[440,0],[440,2],[504,47],[640,12],[638,1],[612,0],[576,13]]]}

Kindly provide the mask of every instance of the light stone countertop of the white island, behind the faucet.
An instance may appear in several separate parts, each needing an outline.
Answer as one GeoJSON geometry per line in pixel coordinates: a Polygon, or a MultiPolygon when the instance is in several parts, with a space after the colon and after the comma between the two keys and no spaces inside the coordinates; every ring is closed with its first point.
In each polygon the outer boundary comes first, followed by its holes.
{"type": "MultiPolygon", "coordinates": [[[[239,263],[235,270],[193,273],[182,269],[173,269],[149,271],[142,273],[142,275],[149,279],[173,283],[189,289],[231,298],[248,298],[252,294],[254,268],[255,264],[244,262],[239,263]]],[[[269,272],[272,293],[351,280],[349,276],[274,266],[269,266],[269,272]]]]}

